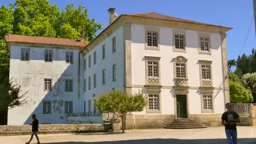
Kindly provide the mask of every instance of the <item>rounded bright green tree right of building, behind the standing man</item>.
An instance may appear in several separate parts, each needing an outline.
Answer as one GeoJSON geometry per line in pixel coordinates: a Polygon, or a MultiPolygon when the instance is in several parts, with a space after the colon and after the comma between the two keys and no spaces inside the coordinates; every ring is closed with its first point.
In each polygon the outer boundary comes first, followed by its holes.
{"type": "Polygon", "coordinates": [[[229,94],[231,103],[247,103],[253,101],[253,96],[249,89],[231,80],[229,80],[229,94]]]}

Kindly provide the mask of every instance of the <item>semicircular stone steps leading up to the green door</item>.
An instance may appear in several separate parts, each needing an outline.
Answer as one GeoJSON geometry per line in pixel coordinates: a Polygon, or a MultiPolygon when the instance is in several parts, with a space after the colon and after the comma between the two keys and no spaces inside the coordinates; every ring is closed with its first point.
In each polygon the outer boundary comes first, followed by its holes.
{"type": "Polygon", "coordinates": [[[174,122],[167,125],[165,129],[199,129],[207,128],[205,124],[195,121],[190,118],[176,118],[174,122]]]}

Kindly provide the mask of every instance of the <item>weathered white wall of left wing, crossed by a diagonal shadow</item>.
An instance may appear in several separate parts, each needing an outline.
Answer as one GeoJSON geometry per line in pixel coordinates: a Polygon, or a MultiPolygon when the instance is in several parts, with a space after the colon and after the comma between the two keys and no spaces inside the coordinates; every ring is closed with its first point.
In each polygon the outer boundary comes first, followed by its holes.
{"type": "Polygon", "coordinates": [[[27,103],[8,111],[8,125],[28,124],[33,113],[39,123],[66,123],[65,101],[73,101],[73,112],[79,112],[79,50],[10,46],[10,78],[27,92],[27,103]],[[21,48],[30,49],[30,61],[20,61],[21,48]],[[44,62],[44,50],[53,50],[53,62],[44,62]],[[66,63],[66,51],[74,52],[74,63],[66,63]],[[52,79],[52,90],[44,91],[44,79],[52,79]],[[73,79],[73,92],[65,92],[65,79],[73,79]],[[43,114],[43,101],[51,101],[51,114],[43,114]],[[17,120],[19,119],[19,121],[17,120]]]}

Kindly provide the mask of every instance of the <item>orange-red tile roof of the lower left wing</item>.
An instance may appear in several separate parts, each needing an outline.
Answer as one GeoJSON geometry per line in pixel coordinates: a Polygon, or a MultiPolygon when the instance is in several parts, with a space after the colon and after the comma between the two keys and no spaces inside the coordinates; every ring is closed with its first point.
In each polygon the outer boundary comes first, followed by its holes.
{"type": "Polygon", "coordinates": [[[5,35],[5,41],[13,42],[13,43],[74,46],[74,47],[80,47],[81,49],[84,48],[86,45],[88,45],[87,42],[81,42],[75,39],[35,37],[35,36],[17,35],[17,34],[5,35]]]}

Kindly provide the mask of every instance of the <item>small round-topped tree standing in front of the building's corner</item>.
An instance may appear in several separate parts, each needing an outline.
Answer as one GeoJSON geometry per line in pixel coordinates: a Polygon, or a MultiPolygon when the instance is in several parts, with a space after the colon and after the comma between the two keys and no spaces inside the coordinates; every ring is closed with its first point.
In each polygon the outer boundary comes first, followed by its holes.
{"type": "Polygon", "coordinates": [[[122,130],[125,133],[125,117],[127,112],[142,111],[146,106],[143,94],[125,93],[121,91],[105,92],[95,100],[95,104],[101,113],[114,113],[121,117],[122,130]]]}

